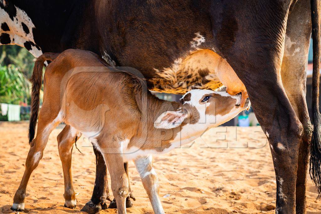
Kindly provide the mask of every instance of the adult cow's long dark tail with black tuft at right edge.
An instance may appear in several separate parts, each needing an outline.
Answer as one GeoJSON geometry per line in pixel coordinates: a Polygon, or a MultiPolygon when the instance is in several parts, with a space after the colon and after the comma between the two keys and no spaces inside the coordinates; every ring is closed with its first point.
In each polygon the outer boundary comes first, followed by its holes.
{"type": "Polygon", "coordinates": [[[314,130],[310,145],[310,176],[321,196],[321,115],[319,111],[320,80],[320,10],[319,1],[311,0],[312,39],[313,39],[313,74],[312,74],[312,123],[314,130]]]}

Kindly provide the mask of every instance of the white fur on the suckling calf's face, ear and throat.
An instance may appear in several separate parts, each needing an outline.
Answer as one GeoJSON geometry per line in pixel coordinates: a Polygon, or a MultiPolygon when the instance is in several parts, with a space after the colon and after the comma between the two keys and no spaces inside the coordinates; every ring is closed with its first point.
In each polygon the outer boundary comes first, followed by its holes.
{"type": "MultiPolygon", "coordinates": [[[[217,92],[212,90],[191,90],[187,94],[183,96],[183,109],[178,109],[176,112],[165,112],[163,113],[154,123],[155,128],[160,129],[171,129],[178,127],[181,124],[182,118],[187,118],[190,113],[186,113],[184,111],[184,105],[189,105],[192,108],[194,107],[196,111],[198,112],[199,118],[198,121],[194,123],[187,123],[185,124],[181,130],[180,133],[178,133],[175,138],[172,141],[169,141],[171,143],[171,146],[162,152],[156,152],[156,151],[146,151],[143,150],[142,152],[145,152],[148,154],[151,153],[166,153],[174,148],[178,148],[184,144],[187,144],[193,140],[195,140],[197,137],[201,136],[204,131],[206,131],[209,128],[216,127],[231,118],[235,117],[239,112],[242,110],[245,110],[247,107],[249,107],[250,103],[248,102],[245,108],[238,107],[238,105],[241,102],[241,96],[230,96],[226,92],[217,92]],[[220,114],[206,114],[207,108],[210,108],[212,113],[215,112],[216,105],[225,105],[225,103],[217,103],[213,104],[215,100],[210,102],[210,99],[207,101],[202,102],[204,100],[204,97],[207,97],[207,95],[213,95],[218,94],[220,97],[230,97],[234,99],[235,101],[233,103],[226,104],[226,108],[230,109],[229,112],[224,115],[220,114]],[[188,97],[186,97],[188,96],[188,97]],[[212,106],[213,105],[213,106],[212,106]],[[231,106],[233,105],[233,106],[231,106]]],[[[132,148],[131,148],[132,149],[132,148]]],[[[135,148],[138,149],[138,148],[135,148]]]]}

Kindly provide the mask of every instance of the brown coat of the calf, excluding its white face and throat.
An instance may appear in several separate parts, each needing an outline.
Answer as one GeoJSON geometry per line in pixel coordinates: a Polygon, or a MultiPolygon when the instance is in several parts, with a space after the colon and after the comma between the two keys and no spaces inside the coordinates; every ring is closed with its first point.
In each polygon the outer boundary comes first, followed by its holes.
{"type": "MultiPolygon", "coordinates": [[[[40,56],[36,61],[36,82],[39,82],[41,70],[39,63],[44,62],[45,56],[40,56]]],[[[200,118],[195,107],[185,102],[180,104],[156,98],[147,90],[143,80],[131,73],[107,67],[99,56],[89,51],[69,49],[61,53],[48,65],[44,83],[44,102],[39,114],[37,136],[31,143],[26,170],[14,197],[15,203],[23,203],[29,177],[42,157],[50,132],[64,122],[66,127],[57,139],[64,171],[66,206],[75,206],[75,202],[71,202],[75,200],[70,174],[72,145],[75,138],[80,136],[79,131],[83,134],[94,132],[99,134],[90,140],[101,150],[110,171],[118,213],[125,213],[126,197],[131,192],[120,144],[130,139],[127,149],[135,147],[162,152],[172,145],[171,140],[185,125],[195,124],[200,118]],[[182,109],[178,110],[179,107],[182,109]],[[167,111],[184,112],[186,120],[176,128],[156,129],[154,121],[167,111]]],[[[33,98],[37,99],[38,96],[39,90],[33,98]]],[[[190,97],[187,94],[185,101],[190,97]]],[[[216,94],[213,97],[221,102],[216,94]]],[[[236,99],[221,98],[230,99],[223,102],[224,108],[234,107],[236,99]]],[[[34,118],[37,114],[35,109],[32,114],[34,118]]],[[[147,166],[146,170],[151,171],[151,167],[147,166]]],[[[150,175],[144,183],[147,192],[153,191],[147,187],[153,182],[155,178],[150,175]]]]}

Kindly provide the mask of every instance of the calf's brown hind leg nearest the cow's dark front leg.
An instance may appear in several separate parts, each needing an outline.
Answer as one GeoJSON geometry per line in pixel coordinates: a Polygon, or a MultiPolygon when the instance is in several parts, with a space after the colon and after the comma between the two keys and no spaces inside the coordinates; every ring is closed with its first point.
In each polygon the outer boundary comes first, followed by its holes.
{"type": "Polygon", "coordinates": [[[61,133],[59,133],[57,136],[59,156],[64,172],[65,207],[72,209],[76,207],[76,196],[71,175],[71,155],[73,151],[73,145],[80,136],[80,132],[69,125],[66,125],[61,133]]]}

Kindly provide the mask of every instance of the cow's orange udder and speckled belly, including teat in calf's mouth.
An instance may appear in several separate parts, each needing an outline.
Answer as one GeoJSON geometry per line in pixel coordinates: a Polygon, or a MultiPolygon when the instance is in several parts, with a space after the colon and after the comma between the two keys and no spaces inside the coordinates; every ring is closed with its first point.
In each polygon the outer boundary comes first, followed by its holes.
{"type": "Polygon", "coordinates": [[[156,70],[156,74],[150,80],[154,83],[154,91],[185,94],[196,88],[215,90],[224,85],[230,95],[242,93],[241,107],[248,98],[244,84],[230,64],[209,49],[191,51],[186,57],[177,59],[172,67],[156,70]]]}

